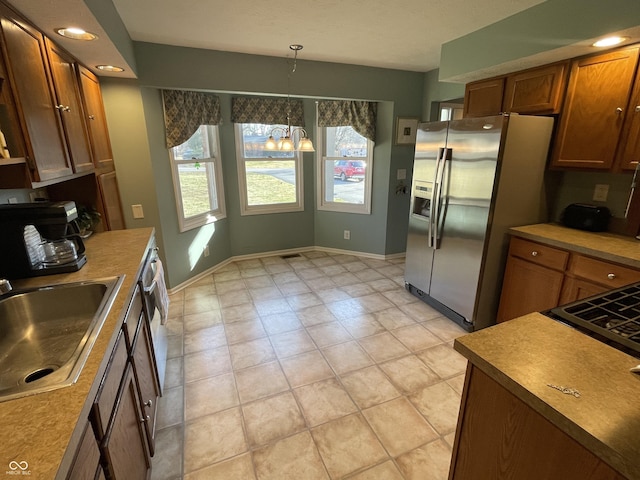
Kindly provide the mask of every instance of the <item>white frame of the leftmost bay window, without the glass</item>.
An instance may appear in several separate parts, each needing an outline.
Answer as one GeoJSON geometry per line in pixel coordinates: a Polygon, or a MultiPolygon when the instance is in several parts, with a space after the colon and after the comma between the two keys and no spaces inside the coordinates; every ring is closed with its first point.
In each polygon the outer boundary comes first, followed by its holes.
{"type": "MultiPolygon", "coordinates": [[[[180,145],[168,149],[180,232],[186,232],[210,223],[215,223],[218,220],[222,220],[227,217],[224,198],[224,181],[222,178],[222,158],[220,155],[220,128],[217,125],[201,125],[199,128],[202,127],[205,127],[207,130],[207,139],[209,143],[209,152],[212,155],[211,157],[198,159],[176,159],[174,156],[174,148],[178,148],[180,145]],[[212,198],[215,198],[218,208],[211,209],[192,217],[185,217],[182,188],[180,186],[180,171],[178,167],[179,165],[186,165],[194,162],[206,164],[209,195],[211,195],[212,198]],[[213,182],[211,182],[211,173],[213,173],[213,182]]],[[[197,131],[194,132],[194,135],[196,133],[197,131]]]]}

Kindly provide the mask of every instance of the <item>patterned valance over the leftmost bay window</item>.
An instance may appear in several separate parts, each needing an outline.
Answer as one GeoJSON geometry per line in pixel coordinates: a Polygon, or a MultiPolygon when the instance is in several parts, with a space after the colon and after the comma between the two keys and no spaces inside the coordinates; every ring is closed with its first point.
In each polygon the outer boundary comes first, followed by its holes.
{"type": "Polygon", "coordinates": [[[167,148],[191,138],[200,125],[220,125],[220,99],[217,95],[190,90],[162,90],[167,148]]]}

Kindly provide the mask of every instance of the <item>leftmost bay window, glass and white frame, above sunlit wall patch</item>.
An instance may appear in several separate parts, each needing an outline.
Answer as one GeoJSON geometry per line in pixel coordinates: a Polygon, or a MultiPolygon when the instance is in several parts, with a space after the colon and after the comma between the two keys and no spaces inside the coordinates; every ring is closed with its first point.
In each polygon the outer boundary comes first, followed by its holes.
{"type": "Polygon", "coordinates": [[[218,145],[218,127],[201,125],[169,149],[181,232],[226,216],[218,145]]]}

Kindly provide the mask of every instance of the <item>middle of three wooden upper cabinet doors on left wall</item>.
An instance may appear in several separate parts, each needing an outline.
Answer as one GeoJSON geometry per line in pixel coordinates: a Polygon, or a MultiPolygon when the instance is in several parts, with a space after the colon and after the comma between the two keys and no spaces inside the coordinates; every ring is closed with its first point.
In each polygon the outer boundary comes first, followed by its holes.
{"type": "Polygon", "coordinates": [[[73,171],[91,171],[93,161],[75,72],[75,61],[50,40],[47,39],[46,44],[56,92],[56,108],[64,126],[73,171]]]}

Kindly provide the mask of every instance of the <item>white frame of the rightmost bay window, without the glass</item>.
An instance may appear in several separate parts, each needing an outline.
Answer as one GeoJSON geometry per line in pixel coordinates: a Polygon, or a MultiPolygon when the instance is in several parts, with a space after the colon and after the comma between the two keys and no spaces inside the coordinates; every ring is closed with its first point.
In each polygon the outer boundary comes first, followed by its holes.
{"type": "MultiPolygon", "coordinates": [[[[373,150],[375,143],[367,138],[367,156],[366,157],[329,157],[326,155],[326,130],[327,128],[336,127],[316,127],[316,137],[318,138],[317,158],[318,158],[318,176],[317,176],[317,209],[328,212],[355,213],[359,215],[371,215],[372,185],[373,185],[373,150]],[[328,161],[335,164],[339,160],[361,160],[367,165],[365,170],[365,178],[362,180],[364,184],[364,202],[362,204],[331,202],[325,198],[326,179],[334,179],[333,171],[327,172],[326,165],[328,161]]],[[[353,127],[352,127],[353,128],[353,127]]]]}

